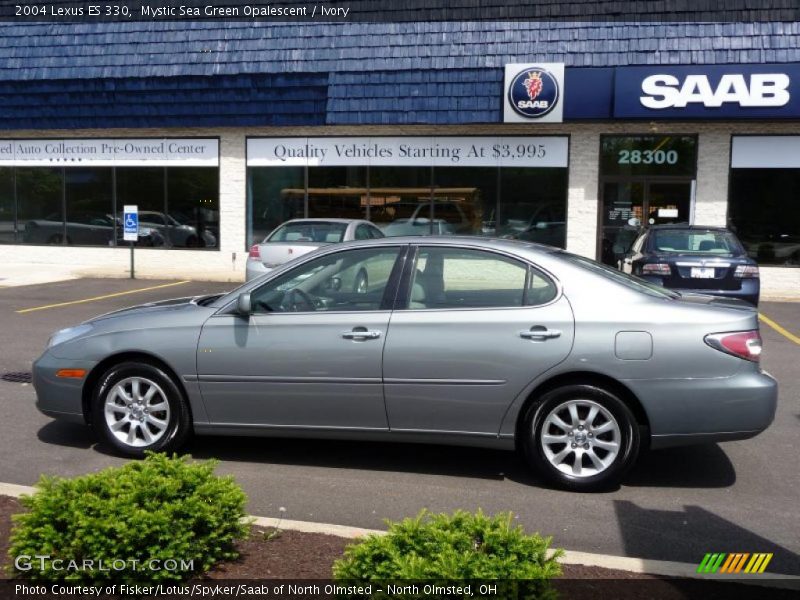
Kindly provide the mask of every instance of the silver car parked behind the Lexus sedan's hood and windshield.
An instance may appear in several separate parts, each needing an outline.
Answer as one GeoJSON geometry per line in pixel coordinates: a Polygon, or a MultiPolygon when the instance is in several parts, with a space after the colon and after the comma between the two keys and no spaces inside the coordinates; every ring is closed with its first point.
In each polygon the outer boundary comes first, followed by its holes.
{"type": "Polygon", "coordinates": [[[292,219],[276,227],[260,244],[253,244],[247,256],[245,281],[326,244],[382,237],[380,229],[360,219],[292,219]]]}

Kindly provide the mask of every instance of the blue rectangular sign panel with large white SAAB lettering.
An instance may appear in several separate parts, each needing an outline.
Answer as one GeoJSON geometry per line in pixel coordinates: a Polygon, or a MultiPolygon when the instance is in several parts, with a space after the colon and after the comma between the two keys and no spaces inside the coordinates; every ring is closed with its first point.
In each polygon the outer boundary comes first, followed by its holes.
{"type": "Polygon", "coordinates": [[[619,68],[619,118],[797,117],[798,65],[619,68]]]}

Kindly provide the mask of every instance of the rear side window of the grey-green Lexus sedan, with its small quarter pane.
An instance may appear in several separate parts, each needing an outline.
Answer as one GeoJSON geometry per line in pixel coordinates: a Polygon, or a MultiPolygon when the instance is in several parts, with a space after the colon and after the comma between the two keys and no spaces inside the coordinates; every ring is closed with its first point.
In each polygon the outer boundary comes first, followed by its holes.
{"type": "Polygon", "coordinates": [[[420,248],[409,309],[513,308],[550,302],[556,286],[539,270],[482,250],[420,248]]]}

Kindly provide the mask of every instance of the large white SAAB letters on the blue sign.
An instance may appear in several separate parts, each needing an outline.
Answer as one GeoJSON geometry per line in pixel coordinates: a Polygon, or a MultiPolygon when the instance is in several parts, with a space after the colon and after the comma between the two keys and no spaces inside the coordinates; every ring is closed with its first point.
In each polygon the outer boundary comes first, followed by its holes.
{"type": "Polygon", "coordinates": [[[653,109],[685,108],[690,103],[719,108],[726,103],[742,107],[784,106],[789,103],[789,76],[784,73],[723,75],[712,87],[705,75],[687,75],[683,83],[674,75],[650,75],[642,81],[639,101],[653,109]]]}

